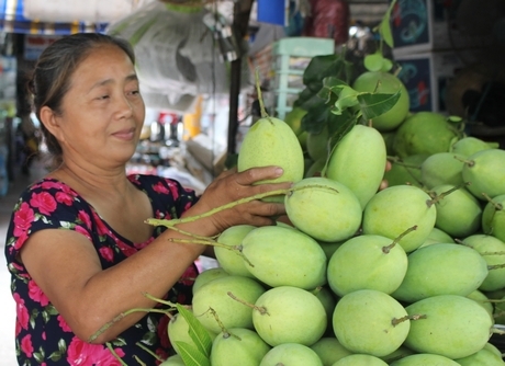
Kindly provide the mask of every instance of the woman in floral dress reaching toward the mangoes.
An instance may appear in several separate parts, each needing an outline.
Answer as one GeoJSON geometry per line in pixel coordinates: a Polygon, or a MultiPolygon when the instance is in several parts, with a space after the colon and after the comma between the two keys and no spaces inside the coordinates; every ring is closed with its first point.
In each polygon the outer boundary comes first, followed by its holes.
{"type": "Polygon", "coordinates": [[[123,41],[76,34],[52,44],[35,66],[34,108],[56,165],[21,195],[7,237],[20,365],[120,365],[117,357],[154,365],[149,353],[166,358],[164,314],[133,312],[98,331],[125,311],[157,306],[146,293],[191,301],[193,262],[209,247],[170,239],[271,225],[285,213],[281,204],[252,201],[178,225],[182,232],[146,225],[150,217],[197,216],[290,184],[252,185],[280,176],[276,167],[226,172],[198,198],[173,180],[126,176],[145,114],[134,61],[123,41]]]}

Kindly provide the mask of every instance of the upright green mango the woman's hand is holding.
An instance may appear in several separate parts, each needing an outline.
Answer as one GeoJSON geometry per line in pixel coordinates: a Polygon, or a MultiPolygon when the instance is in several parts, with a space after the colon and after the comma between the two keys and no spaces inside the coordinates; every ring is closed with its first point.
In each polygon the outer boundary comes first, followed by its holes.
{"type": "Polygon", "coordinates": [[[300,141],[293,129],[282,119],[258,119],[244,136],[238,151],[237,170],[277,165],[284,170],[282,176],[270,182],[298,182],[304,173],[304,158],[300,141]]]}

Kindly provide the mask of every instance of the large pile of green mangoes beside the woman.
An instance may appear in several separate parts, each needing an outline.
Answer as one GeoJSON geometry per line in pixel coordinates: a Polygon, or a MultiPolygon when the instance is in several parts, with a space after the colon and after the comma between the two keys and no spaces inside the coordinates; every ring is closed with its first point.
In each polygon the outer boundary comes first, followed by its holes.
{"type": "Polygon", "coordinates": [[[431,112],[388,128],[356,124],[318,175],[285,122],[255,123],[237,168],[284,168],[291,225],[222,232],[162,365],[505,364],[505,150],[431,112]]]}

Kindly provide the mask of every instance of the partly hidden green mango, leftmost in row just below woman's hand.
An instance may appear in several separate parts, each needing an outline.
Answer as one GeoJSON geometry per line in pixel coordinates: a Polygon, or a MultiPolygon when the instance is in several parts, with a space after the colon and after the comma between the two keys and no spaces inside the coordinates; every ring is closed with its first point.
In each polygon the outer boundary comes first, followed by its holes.
{"type": "Polygon", "coordinates": [[[242,241],[255,228],[252,225],[237,225],[225,229],[218,236],[217,242],[226,245],[226,248],[214,247],[215,259],[221,267],[231,275],[254,277],[244,263],[242,241]]]}

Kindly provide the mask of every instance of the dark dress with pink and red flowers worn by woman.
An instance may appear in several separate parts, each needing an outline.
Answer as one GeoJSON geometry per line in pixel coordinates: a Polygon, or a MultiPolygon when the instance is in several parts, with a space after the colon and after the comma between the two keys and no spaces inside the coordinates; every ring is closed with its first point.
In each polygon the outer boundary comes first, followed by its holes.
{"type": "MultiPolygon", "coordinates": [[[[150,198],[154,217],[178,218],[197,201],[193,191],[177,181],[154,175],[131,175],[132,184],[150,198]]],[[[77,192],[68,185],[43,179],[31,185],[14,207],[7,233],[5,256],[12,275],[12,295],[16,304],[15,347],[19,365],[157,365],[172,354],[167,335],[168,317],[150,312],[114,341],[90,344],[78,339],[58,310],[50,304],[26,268],[19,253],[26,239],[43,229],[75,230],[94,245],[102,267],[111,267],[148,245],[166,228],[156,227],[147,242],[134,243],[115,232],[77,192]],[[115,355],[110,351],[114,350],[115,355]],[[123,364],[117,357],[121,357],[123,364]],[[139,363],[137,359],[142,361],[139,363]]],[[[167,294],[167,299],[191,304],[192,284],[198,275],[190,266],[167,294]]]]}

